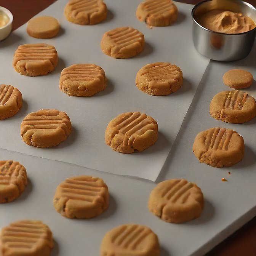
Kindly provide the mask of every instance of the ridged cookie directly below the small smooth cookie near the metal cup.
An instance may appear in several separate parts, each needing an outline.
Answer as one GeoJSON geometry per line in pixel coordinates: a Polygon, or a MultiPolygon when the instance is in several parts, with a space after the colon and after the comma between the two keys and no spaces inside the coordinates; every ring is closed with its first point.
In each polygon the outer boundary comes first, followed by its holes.
{"type": "Polygon", "coordinates": [[[227,123],[244,123],[256,116],[256,102],[242,91],[222,91],[210,103],[213,118],[227,123]]]}

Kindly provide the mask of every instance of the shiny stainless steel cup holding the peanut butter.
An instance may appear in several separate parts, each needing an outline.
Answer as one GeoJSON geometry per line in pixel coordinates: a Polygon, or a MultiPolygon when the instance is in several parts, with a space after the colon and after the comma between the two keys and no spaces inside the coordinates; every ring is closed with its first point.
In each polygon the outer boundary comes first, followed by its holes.
{"type": "Polygon", "coordinates": [[[198,3],[192,10],[193,42],[199,53],[216,61],[235,61],[245,58],[254,43],[256,28],[240,34],[224,34],[202,27],[197,18],[202,14],[214,10],[229,10],[241,12],[256,22],[256,9],[241,0],[207,0],[198,3]]]}

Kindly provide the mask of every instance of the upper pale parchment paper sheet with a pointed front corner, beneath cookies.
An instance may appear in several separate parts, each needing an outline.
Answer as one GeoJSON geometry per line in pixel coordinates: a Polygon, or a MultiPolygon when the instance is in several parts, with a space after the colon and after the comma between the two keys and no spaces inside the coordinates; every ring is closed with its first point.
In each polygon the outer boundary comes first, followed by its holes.
{"type": "Polygon", "coordinates": [[[193,6],[176,3],[178,20],[168,27],[150,29],[135,16],[141,0],[106,0],[109,9],[107,19],[94,26],[66,21],[63,15],[66,2],[58,0],[38,14],[51,15],[59,20],[61,31],[57,37],[44,40],[29,37],[25,24],[0,43],[0,82],[17,87],[24,99],[18,114],[0,122],[0,148],[154,181],[209,62],[197,53],[192,43],[190,12],[193,6]],[[118,26],[133,26],[145,35],[146,46],[142,53],[130,59],[113,59],[102,53],[99,47],[102,35],[118,26]],[[14,51],[21,44],[39,42],[55,46],[59,55],[56,70],[40,77],[19,75],[11,65],[14,51]],[[138,70],[156,61],[168,61],[181,68],[184,84],[176,93],[157,97],[136,88],[138,70]],[[106,90],[88,98],[70,97],[60,91],[61,70],[75,63],[101,66],[109,80],[106,90]],[[56,147],[38,149],[27,146],[20,136],[20,124],[30,112],[44,108],[65,111],[73,131],[65,142],[56,147]],[[129,111],[145,112],[157,120],[159,138],[149,149],[126,155],[105,145],[104,132],[112,118],[129,111]]]}

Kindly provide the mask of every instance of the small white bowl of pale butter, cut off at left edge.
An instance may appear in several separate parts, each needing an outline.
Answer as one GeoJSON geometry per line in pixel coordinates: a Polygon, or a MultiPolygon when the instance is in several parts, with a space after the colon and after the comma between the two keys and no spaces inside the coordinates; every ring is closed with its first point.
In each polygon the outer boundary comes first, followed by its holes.
{"type": "Polygon", "coordinates": [[[8,37],[13,24],[13,14],[6,8],[0,6],[0,41],[8,37]]]}

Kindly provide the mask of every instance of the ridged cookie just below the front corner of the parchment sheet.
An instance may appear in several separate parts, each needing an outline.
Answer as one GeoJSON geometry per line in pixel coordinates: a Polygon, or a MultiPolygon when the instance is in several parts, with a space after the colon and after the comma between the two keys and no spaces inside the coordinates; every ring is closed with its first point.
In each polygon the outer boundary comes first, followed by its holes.
{"type": "Polygon", "coordinates": [[[162,181],[149,196],[149,211],[166,222],[181,223],[198,218],[203,210],[201,189],[186,179],[162,181]]]}

